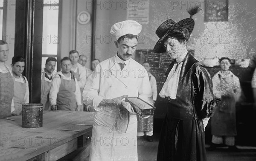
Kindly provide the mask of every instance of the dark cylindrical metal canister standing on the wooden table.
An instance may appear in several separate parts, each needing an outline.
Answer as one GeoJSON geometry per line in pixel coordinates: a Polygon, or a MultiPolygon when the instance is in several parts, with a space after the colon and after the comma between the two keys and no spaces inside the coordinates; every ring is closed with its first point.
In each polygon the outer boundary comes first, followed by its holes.
{"type": "Polygon", "coordinates": [[[24,128],[37,128],[43,126],[43,109],[41,103],[27,103],[22,105],[22,124],[24,128]]]}

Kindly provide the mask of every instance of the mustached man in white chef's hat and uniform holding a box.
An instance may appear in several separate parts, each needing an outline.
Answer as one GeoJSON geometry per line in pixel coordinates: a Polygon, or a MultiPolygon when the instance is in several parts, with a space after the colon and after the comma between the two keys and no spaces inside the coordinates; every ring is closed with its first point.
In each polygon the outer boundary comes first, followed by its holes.
{"type": "Polygon", "coordinates": [[[126,97],[152,102],[145,68],[131,59],[141,25],[126,20],[114,24],[116,54],[100,62],[88,77],[83,100],[95,109],[90,160],[137,161],[137,116],[126,97]]]}

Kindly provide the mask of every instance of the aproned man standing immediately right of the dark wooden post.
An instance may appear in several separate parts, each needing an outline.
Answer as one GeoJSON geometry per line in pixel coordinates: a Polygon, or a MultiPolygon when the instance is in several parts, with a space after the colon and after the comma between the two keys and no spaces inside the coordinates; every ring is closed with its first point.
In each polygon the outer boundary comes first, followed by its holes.
{"type": "Polygon", "coordinates": [[[56,62],[55,57],[47,58],[41,76],[41,103],[44,104],[44,110],[50,110],[49,91],[52,85],[52,79],[56,75],[54,71],[56,62]]]}

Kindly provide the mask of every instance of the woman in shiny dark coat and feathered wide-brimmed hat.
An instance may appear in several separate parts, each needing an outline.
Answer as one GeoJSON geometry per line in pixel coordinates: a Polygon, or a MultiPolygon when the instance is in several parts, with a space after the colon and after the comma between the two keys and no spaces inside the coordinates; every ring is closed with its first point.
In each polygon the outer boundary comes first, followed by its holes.
{"type": "Polygon", "coordinates": [[[167,52],[173,62],[159,95],[168,100],[161,130],[157,161],[206,161],[204,127],[215,108],[212,80],[198,60],[188,54],[186,43],[194,28],[190,18],[175,23],[169,19],[156,31],[160,38],[155,53],[167,52]]]}

